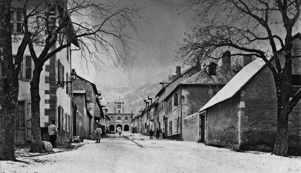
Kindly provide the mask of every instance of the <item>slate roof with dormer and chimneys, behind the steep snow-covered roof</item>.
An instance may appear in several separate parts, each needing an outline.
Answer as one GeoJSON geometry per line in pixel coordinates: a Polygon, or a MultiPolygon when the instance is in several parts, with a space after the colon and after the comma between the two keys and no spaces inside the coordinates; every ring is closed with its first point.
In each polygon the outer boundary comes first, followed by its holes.
{"type": "Polygon", "coordinates": [[[222,66],[216,66],[216,75],[209,75],[206,68],[188,79],[181,82],[179,85],[200,85],[200,84],[226,84],[232,77],[235,75],[235,72],[232,70],[224,70],[222,66]]]}

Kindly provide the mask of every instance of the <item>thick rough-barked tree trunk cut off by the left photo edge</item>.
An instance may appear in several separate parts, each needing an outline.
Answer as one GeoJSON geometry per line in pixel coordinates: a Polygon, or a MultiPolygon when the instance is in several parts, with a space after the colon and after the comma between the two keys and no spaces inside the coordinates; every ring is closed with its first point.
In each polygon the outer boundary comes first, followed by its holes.
{"type": "Polygon", "coordinates": [[[14,120],[19,83],[14,74],[10,33],[10,0],[0,1],[0,160],[15,160],[14,120]]]}

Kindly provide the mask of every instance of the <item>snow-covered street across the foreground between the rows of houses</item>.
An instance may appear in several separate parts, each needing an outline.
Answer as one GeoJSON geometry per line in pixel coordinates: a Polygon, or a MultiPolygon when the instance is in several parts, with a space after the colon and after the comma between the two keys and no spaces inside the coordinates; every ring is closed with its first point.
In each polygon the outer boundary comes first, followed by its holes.
{"type": "Polygon", "coordinates": [[[300,172],[301,157],[241,153],[186,141],[150,140],[123,132],[77,150],[0,162],[1,172],[300,172]],[[136,143],[140,144],[139,147],[136,143]]]}

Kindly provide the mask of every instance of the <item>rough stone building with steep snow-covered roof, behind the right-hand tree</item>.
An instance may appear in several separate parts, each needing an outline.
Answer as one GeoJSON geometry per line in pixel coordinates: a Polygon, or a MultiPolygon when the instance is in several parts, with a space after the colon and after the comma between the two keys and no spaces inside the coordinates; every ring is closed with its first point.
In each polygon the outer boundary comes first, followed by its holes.
{"type": "MultiPolygon", "coordinates": [[[[300,51],[300,33],[292,55],[300,51]]],[[[279,53],[283,53],[281,50],[279,53]]],[[[283,58],[280,56],[283,63],[283,58]]],[[[292,62],[292,96],[301,88],[301,58],[292,62]]],[[[272,72],[258,58],[245,66],[200,109],[202,142],[237,149],[272,151],[277,132],[277,98],[272,72]]],[[[301,101],[288,119],[288,153],[301,153],[301,101]]]]}

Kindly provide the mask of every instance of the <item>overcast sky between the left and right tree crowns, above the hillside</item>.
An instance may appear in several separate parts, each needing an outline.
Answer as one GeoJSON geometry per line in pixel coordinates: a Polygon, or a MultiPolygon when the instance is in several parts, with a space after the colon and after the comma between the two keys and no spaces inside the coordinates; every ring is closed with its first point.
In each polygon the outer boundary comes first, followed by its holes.
{"type": "MultiPolygon", "coordinates": [[[[76,73],[95,83],[102,91],[103,103],[118,99],[123,92],[135,90],[144,84],[159,83],[167,79],[169,68],[175,73],[174,62],[177,44],[182,43],[184,32],[192,27],[192,13],[181,13],[181,1],[176,0],[140,0],[140,7],[145,7],[139,13],[144,20],[138,27],[138,35],[134,58],[129,59],[128,66],[121,69],[107,68],[98,72],[91,67],[80,67],[79,52],[72,52],[72,66],[76,73]],[[178,15],[178,13],[180,14],[178,15]]],[[[156,94],[156,93],[154,93],[156,94]]]]}

